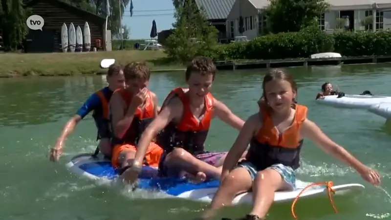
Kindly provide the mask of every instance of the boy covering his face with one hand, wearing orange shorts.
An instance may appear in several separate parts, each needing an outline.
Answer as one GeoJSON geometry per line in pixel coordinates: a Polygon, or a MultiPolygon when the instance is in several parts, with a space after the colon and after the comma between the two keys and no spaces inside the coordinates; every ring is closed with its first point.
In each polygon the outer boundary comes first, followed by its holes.
{"type": "MultiPolygon", "coordinates": [[[[147,128],[159,110],[157,96],[150,91],[148,83],[151,76],[144,63],[130,63],[124,68],[127,88],[117,89],[110,100],[110,116],[113,131],[112,165],[122,175],[131,167],[142,132],[147,128]]],[[[142,164],[156,166],[163,149],[155,142],[146,144],[146,154],[142,164]]]]}

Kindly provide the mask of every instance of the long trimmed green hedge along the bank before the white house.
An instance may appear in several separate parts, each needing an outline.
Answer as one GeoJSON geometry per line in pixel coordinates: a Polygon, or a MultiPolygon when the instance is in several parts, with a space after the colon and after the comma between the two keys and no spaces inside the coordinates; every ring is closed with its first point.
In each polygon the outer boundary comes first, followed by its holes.
{"type": "Polygon", "coordinates": [[[317,27],[300,32],[269,34],[249,42],[218,45],[205,55],[216,61],[238,59],[308,58],[311,54],[337,52],[342,56],[391,54],[391,32],[360,31],[327,34],[317,27]]]}

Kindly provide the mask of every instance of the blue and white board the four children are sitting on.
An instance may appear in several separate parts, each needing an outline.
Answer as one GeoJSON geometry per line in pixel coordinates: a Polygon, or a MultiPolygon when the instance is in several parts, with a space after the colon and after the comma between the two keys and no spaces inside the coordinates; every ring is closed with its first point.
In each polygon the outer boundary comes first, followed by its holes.
{"type": "MultiPolygon", "coordinates": [[[[66,164],[66,167],[71,173],[100,182],[114,181],[118,177],[117,171],[111,166],[110,161],[101,154],[98,154],[96,157],[92,157],[91,154],[76,155],[66,164]]],[[[219,184],[218,180],[208,180],[195,184],[181,178],[157,177],[155,176],[156,173],[156,168],[144,166],[139,175],[137,190],[156,192],[165,198],[183,198],[193,201],[211,202],[219,184]]],[[[296,184],[297,189],[294,191],[276,192],[274,201],[292,202],[311,183],[297,180],[296,184]]],[[[335,185],[331,188],[335,191],[335,195],[355,194],[365,189],[363,185],[356,183],[335,185]]],[[[300,198],[325,197],[327,193],[328,189],[326,186],[312,186],[305,190],[300,195],[300,198]]],[[[233,204],[240,203],[251,204],[252,194],[243,193],[238,195],[234,199],[233,204]]]]}

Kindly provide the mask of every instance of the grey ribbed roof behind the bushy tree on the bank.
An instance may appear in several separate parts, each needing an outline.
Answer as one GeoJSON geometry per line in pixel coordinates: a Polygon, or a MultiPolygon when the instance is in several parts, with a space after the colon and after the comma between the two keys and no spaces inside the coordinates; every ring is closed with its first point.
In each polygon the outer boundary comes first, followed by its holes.
{"type": "Polygon", "coordinates": [[[198,8],[202,8],[208,20],[227,19],[235,0],[195,0],[198,8]]]}

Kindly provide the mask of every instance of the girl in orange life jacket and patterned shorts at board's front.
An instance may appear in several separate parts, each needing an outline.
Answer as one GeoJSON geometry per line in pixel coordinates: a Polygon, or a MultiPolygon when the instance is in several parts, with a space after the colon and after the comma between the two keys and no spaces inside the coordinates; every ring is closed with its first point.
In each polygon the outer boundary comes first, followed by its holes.
{"type": "Polygon", "coordinates": [[[203,219],[209,219],[221,206],[231,204],[237,195],[248,191],[253,192],[254,205],[242,220],[264,219],[274,193],[296,187],[295,170],[299,168],[304,138],[352,166],[366,181],[380,184],[377,171],[334,143],[307,119],[307,107],[295,104],[297,88],[290,75],[280,69],[271,70],[264,76],[262,87],[264,102],[259,112],[247,119],[227,154],[221,184],[203,219]],[[249,143],[246,159],[238,163],[249,143]]]}

